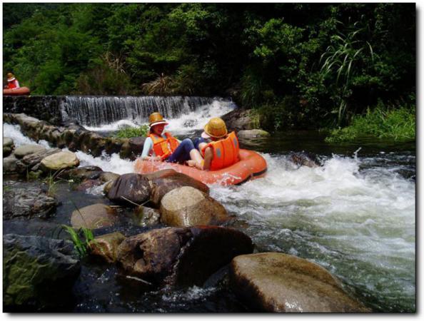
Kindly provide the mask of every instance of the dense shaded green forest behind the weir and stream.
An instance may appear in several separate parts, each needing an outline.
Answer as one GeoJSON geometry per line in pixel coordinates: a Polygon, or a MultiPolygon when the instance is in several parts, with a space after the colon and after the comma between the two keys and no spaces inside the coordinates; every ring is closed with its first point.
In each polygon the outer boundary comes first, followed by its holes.
{"type": "Polygon", "coordinates": [[[415,4],[5,3],[3,19],[4,75],[33,94],[231,96],[273,130],[415,113],[415,4]]]}

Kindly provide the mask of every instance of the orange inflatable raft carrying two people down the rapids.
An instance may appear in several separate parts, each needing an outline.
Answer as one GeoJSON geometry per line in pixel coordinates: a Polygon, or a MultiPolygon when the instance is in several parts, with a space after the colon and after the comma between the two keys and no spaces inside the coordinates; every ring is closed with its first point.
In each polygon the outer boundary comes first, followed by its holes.
{"type": "Polygon", "coordinates": [[[157,170],[172,168],[205,184],[239,185],[247,180],[263,177],[266,161],[261,155],[246,149],[240,150],[240,161],[221,170],[198,170],[186,165],[158,161],[143,161],[137,158],[134,165],[136,173],[147,174],[157,170]]]}

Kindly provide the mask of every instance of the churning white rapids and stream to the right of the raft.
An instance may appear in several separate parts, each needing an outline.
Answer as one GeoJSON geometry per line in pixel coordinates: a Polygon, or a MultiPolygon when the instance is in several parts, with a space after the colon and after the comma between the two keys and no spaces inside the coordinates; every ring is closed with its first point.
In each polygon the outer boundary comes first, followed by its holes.
{"type": "Polygon", "coordinates": [[[323,167],[296,168],[285,156],[264,157],[265,178],[211,188],[213,198],[249,222],[261,251],[313,260],[390,308],[413,305],[413,180],[383,167],[360,170],[360,158],[333,156],[323,167]]]}

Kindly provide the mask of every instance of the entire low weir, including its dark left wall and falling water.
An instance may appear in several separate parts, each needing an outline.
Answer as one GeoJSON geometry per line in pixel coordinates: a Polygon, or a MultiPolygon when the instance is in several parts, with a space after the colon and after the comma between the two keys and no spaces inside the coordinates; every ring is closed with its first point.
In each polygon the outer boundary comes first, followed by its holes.
{"type": "Polygon", "coordinates": [[[231,103],[225,98],[191,96],[4,96],[3,108],[4,113],[26,113],[54,125],[76,120],[94,128],[121,120],[141,123],[153,111],[176,118],[213,101],[231,103]]]}

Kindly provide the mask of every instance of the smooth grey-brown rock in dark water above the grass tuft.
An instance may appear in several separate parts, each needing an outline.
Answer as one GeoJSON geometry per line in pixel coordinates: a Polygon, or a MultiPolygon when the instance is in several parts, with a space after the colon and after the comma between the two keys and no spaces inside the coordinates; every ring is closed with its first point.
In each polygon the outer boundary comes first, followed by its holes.
{"type": "Polygon", "coordinates": [[[74,210],[71,216],[73,228],[105,228],[118,221],[116,210],[108,205],[93,204],[74,210]]]}

